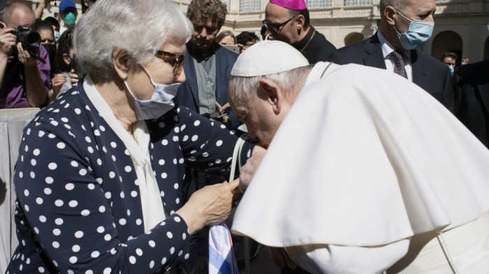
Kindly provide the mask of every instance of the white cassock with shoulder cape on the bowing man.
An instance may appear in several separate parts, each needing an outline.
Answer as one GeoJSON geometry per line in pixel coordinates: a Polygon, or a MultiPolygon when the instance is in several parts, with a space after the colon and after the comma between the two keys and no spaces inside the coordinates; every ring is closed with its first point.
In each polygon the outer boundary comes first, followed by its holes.
{"type": "Polygon", "coordinates": [[[328,64],[309,73],[232,231],[312,273],[489,273],[489,150],[408,80],[328,64]]]}

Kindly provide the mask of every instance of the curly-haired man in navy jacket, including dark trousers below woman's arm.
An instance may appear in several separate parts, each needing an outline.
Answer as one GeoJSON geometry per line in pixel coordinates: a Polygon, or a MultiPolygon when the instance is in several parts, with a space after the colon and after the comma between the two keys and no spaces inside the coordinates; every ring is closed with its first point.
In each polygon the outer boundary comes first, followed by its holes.
{"type": "MultiPolygon", "coordinates": [[[[226,11],[226,4],[219,0],[191,1],[187,17],[194,32],[182,63],[187,80],[179,87],[175,103],[235,129],[240,122],[228,108],[228,82],[238,54],[215,42],[226,11]]],[[[182,199],[187,201],[197,189],[224,180],[223,176],[186,168],[182,199]]],[[[181,273],[207,273],[208,231],[205,226],[191,237],[190,257],[182,263],[181,273]]]]}

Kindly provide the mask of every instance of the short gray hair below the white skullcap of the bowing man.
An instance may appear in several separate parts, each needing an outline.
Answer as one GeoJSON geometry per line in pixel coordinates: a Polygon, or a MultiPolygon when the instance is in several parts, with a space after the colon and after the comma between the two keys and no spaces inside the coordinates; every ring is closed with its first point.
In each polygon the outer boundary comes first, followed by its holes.
{"type": "Polygon", "coordinates": [[[256,90],[261,79],[271,80],[282,89],[286,90],[286,96],[297,94],[302,85],[305,76],[311,71],[314,65],[301,66],[297,69],[284,71],[281,73],[273,73],[263,76],[231,76],[229,80],[228,97],[239,101],[254,101],[256,99],[256,90]]]}

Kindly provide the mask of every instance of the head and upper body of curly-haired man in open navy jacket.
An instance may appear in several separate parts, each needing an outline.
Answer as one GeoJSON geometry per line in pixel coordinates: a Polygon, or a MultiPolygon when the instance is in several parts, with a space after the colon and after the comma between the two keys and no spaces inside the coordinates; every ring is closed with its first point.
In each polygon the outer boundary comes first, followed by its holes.
{"type": "Polygon", "coordinates": [[[194,24],[194,33],[187,43],[183,62],[187,80],[178,89],[175,103],[206,117],[228,113],[221,122],[236,128],[240,122],[225,105],[231,69],[238,54],[215,42],[226,19],[226,4],[219,0],[195,0],[189,5],[187,16],[194,24]]]}

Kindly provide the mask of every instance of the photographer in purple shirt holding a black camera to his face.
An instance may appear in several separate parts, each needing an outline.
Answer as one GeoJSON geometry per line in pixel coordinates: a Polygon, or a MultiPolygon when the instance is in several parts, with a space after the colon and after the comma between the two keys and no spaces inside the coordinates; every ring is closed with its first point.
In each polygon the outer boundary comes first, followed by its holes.
{"type": "Polygon", "coordinates": [[[34,29],[34,11],[24,3],[10,3],[0,20],[0,108],[40,107],[46,102],[50,83],[48,52],[17,41],[34,29]],[[35,58],[37,55],[38,58],[35,58]],[[42,61],[41,61],[42,60],[42,61]]]}

